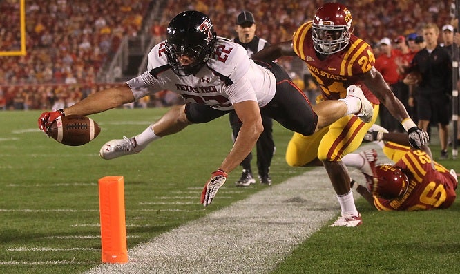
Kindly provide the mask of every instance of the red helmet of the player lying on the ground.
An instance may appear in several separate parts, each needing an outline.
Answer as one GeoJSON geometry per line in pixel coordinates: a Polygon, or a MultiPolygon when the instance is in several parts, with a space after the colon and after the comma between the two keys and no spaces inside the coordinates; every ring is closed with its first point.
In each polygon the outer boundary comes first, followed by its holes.
{"type": "Polygon", "coordinates": [[[367,180],[367,190],[379,198],[392,200],[402,197],[408,191],[408,176],[400,167],[376,165],[372,180],[367,180]]]}

